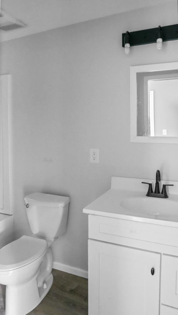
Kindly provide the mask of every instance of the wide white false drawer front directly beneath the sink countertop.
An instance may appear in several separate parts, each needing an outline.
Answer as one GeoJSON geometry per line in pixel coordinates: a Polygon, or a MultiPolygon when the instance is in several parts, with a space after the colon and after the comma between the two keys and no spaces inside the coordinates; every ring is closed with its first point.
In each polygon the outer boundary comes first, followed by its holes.
{"type": "Polygon", "coordinates": [[[177,246],[178,228],[89,215],[89,238],[116,244],[129,238],[177,246]]]}

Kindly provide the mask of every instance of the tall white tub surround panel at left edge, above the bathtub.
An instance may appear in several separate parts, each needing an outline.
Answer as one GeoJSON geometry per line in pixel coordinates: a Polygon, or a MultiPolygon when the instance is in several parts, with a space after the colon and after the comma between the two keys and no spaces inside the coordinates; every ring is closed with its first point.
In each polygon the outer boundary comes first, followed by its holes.
{"type": "Polygon", "coordinates": [[[0,213],[12,214],[10,74],[0,75],[0,213]]]}

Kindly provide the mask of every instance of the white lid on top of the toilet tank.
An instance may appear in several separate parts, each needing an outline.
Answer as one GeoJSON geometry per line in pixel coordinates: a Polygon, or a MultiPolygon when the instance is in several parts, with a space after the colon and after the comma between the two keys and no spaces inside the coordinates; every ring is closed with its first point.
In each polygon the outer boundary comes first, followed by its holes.
{"type": "Polygon", "coordinates": [[[64,207],[70,202],[69,197],[44,194],[42,192],[34,192],[27,195],[24,200],[26,204],[43,207],[64,207]]]}

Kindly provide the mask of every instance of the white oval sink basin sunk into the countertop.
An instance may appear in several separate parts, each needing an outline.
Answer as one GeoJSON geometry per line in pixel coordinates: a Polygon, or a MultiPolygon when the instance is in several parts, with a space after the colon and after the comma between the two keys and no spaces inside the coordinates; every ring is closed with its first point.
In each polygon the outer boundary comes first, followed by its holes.
{"type": "Polygon", "coordinates": [[[171,199],[136,196],[123,199],[120,205],[126,209],[127,212],[134,213],[135,215],[169,221],[178,219],[177,196],[171,199]]]}

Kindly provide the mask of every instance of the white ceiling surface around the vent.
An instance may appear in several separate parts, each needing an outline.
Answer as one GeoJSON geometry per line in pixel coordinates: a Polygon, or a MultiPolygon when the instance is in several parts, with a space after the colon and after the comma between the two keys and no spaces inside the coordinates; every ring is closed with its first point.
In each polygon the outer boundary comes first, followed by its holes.
{"type": "Polygon", "coordinates": [[[171,0],[1,0],[1,9],[27,25],[0,31],[0,41],[157,5],[171,0]]]}

